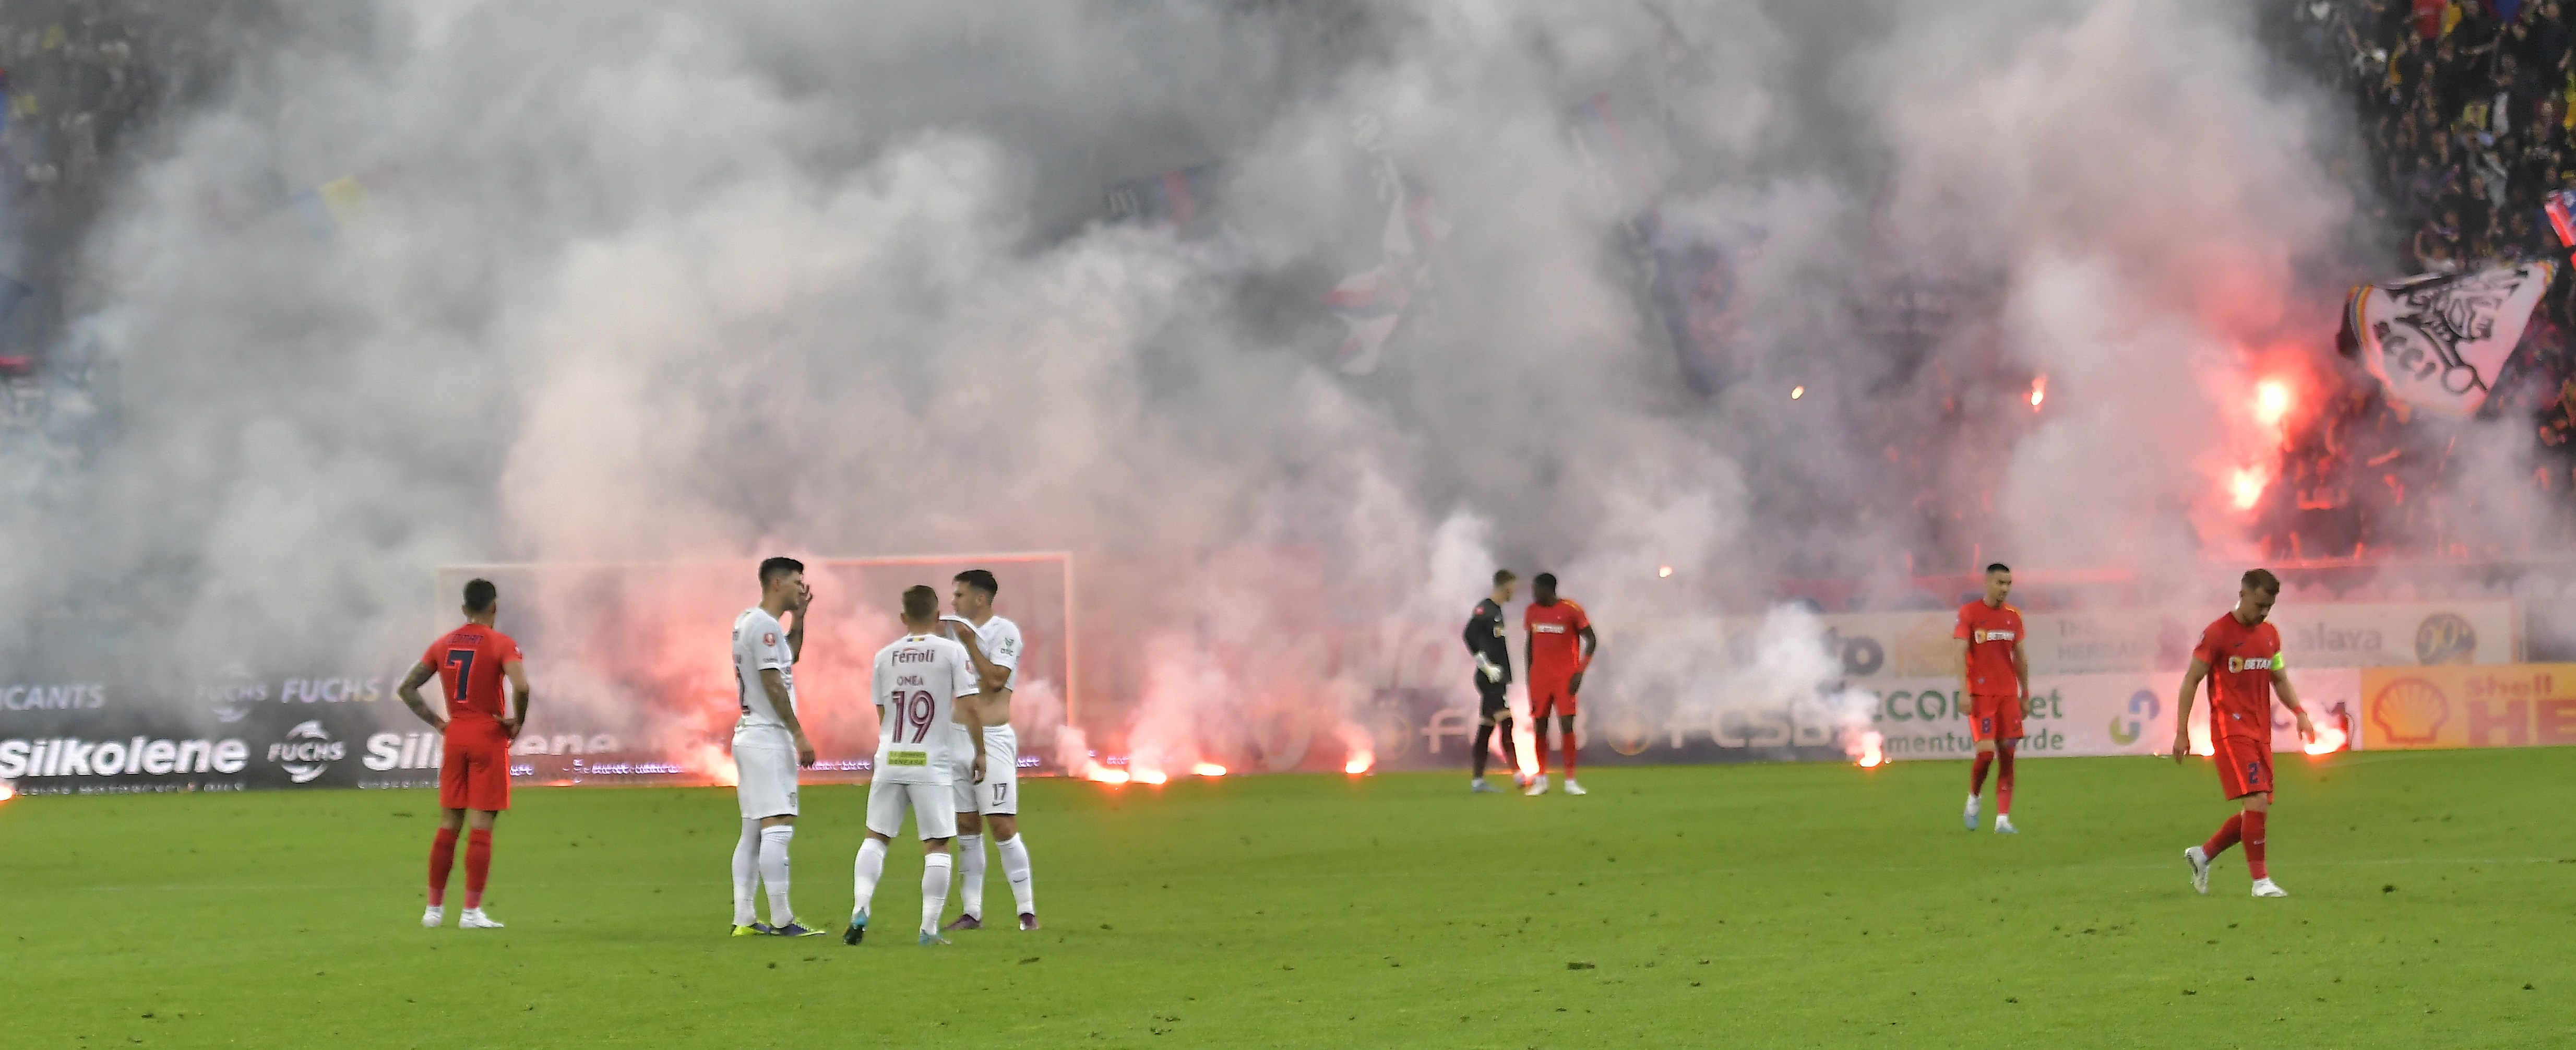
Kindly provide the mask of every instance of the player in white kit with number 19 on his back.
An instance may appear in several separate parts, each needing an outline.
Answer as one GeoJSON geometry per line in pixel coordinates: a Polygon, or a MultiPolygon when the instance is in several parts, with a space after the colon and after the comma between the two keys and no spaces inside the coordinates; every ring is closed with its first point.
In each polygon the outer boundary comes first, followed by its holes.
{"type": "Polygon", "coordinates": [[[886,844],[904,829],[904,813],[922,834],[922,944],[948,944],[940,937],[940,908],[948,906],[948,839],[958,834],[951,806],[948,721],[963,718],[974,733],[974,759],[966,764],[969,782],[984,780],[984,726],[974,721],[974,708],[958,708],[958,697],[976,692],[976,656],[969,643],[943,638],[940,592],[912,587],[904,592],[904,636],[876,651],[876,672],[868,692],[876,697],[876,772],[868,777],[868,842],[858,844],[853,865],[850,929],[842,944],[868,937],[868,901],[876,898],[876,880],[886,875],[886,844]]]}

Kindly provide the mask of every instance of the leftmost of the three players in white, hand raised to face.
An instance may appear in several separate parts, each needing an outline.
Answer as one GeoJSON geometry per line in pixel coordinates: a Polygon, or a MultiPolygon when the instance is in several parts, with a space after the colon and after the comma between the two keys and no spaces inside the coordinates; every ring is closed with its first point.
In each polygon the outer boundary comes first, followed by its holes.
{"type": "Polygon", "coordinates": [[[742,803],[742,839],[734,842],[734,937],[814,937],[788,906],[788,842],[796,839],[796,767],[814,764],[814,741],[796,721],[796,659],[804,656],[806,607],[814,589],[804,561],[760,564],[760,605],[734,618],[734,687],[742,718],[734,723],[734,800],[742,803]],[[796,625],[781,623],[793,615],[796,625]],[[752,911],[755,888],[768,883],[770,921],[752,911]]]}

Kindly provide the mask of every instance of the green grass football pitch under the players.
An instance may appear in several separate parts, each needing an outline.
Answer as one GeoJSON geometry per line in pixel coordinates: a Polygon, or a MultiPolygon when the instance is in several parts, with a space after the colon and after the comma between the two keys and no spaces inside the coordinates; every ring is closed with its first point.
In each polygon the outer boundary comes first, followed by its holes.
{"type": "MultiPolygon", "coordinates": [[[[2025,762],[2009,839],[1960,831],[1958,762],[1595,769],[1589,798],[1048,780],[1048,929],[951,950],[899,937],[902,842],[881,942],[721,937],[724,790],[520,793],[505,932],[415,924],[428,793],[21,798],[0,1042],[2566,1045],[2568,759],[2285,759],[2285,901],[2241,852],[2192,896],[2177,852],[2228,811],[2200,762],[2025,762]]],[[[837,929],[863,788],[804,800],[796,901],[837,929]]]]}

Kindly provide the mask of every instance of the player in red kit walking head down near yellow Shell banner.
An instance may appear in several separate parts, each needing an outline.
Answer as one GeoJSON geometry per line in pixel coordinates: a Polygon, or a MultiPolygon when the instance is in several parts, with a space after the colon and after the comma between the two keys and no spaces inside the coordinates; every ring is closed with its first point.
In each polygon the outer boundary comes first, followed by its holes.
{"type": "Polygon", "coordinates": [[[2298,715],[2298,736],[2316,739],[2316,726],[2298,708],[2298,690],[2290,687],[2290,667],[2280,659],[2280,631],[2264,623],[2272,602],[2280,600],[2280,579],[2254,569],[2236,589],[2236,607],[2210,620],[2192,649],[2192,669],[2182,674],[2182,697],[2174,700],[2174,762],[2192,754],[2192,695],[2200,679],[2210,679],[2210,746],[2218,762],[2218,788],[2244,811],[2228,816],[2210,842],[2190,847],[2182,860],[2192,865],[2192,888],[2210,890],[2210,857],[2228,847],[2246,844],[2246,872],[2254,875],[2254,896],[2290,896],[2272,885],[2264,867],[2264,824],[2272,816],[2272,695],[2298,715]]]}

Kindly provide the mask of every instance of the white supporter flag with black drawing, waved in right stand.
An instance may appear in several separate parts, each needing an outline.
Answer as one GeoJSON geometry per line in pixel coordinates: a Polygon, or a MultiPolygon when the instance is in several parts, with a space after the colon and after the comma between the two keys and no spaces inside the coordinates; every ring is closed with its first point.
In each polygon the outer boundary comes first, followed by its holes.
{"type": "Polygon", "coordinates": [[[2336,342],[2388,396],[2468,417],[2486,404],[2553,275],[2558,265],[2543,260],[2360,286],[2336,342]]]}

